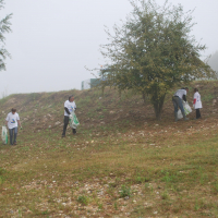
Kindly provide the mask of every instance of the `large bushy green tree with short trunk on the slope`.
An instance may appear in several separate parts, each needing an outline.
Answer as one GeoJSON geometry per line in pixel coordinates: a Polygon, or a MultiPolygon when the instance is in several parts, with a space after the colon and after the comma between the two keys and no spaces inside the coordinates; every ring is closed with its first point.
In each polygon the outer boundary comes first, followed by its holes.
{"type": "MultiPolygon", "coordinates": [[[[107,29],[109,44],[101,46],[107,60],[107,84],[120,90],[134,89],[148,95],[156,118],[161,118],[167,92],[175,84],[214,77],[215,72],[201,60],[204,45],[191,35],[192,12],[168,1],[158,5],[153,0],[131,0],[133,11],[107,29]]],[[[106,82],[105,82],[106,83],[106,82]]]]}

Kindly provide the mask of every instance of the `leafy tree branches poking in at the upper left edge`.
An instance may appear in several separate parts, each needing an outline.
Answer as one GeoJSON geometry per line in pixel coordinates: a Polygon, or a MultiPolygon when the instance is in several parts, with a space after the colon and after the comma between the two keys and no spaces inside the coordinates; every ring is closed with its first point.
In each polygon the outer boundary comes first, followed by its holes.
{"type": "MultiPolygon", "coordinates": [[[[0,0],[0,10],[3,9],[4,0],[0,0]]],[[[5,70],[5,59],[10,57],[10,53],[4,48],[5,45],[5,33],[11,32],[11,20],[12,14],[7,15],[0,20],[0,71],[5,70]]]]}

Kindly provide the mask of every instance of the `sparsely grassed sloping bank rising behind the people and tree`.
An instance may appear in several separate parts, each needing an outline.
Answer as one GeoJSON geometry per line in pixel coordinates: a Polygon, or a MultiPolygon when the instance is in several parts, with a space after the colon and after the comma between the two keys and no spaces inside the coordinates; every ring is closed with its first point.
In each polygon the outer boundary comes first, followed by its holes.
{"type": "MultiPolygon", "coordinates": [[[[216,82],[193,84],[187,95],[187,101],[191,106],[194,87],[197,87],[202,95],[204,104],[203,117],[215,116],[218,93],[216,82]]],[[[99,89],[11,95],[0,100],[0,120],[3,122],[11,108],[16,107],[23,125],[33,132],[46,129],[59,130],[61,132],[63,102],[71,94],[75,96],[77,105],[76,114],[81,121],[82,129],[95,130],[96,128],[110,128],[121,123],[122,128],[129,128],[131,124],[141,125],[146,121],[154,122],[155,120],[153,106],[144,104],[140,95],[128,92],[120,96],[118,92],[109,88],[104,97],[99,89]]],[[[166,97],[162,120],[160,122],[173,121],[172,94],[173,90],[166,97]]],[[[194,118],[194,113],[191,114],[191,118],[194,118]]]]}

